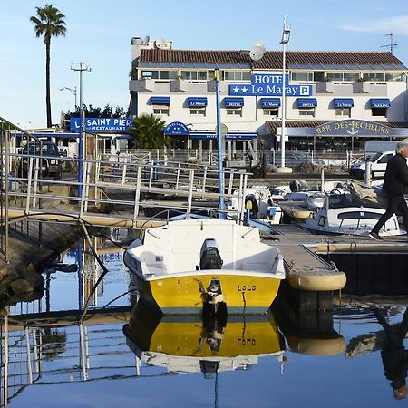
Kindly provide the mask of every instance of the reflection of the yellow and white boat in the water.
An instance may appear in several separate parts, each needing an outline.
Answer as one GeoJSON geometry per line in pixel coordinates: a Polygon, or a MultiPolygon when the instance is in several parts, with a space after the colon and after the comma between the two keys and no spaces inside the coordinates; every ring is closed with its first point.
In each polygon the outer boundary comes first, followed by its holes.
{"type": "Polygon", "coordinates": [[[284,360],[285,341],[273,316],[160,316],[141,304],[123,326],[127,344],[143,364],[168,372],[203,373],[247,369],[258,358],[284,360]]]}

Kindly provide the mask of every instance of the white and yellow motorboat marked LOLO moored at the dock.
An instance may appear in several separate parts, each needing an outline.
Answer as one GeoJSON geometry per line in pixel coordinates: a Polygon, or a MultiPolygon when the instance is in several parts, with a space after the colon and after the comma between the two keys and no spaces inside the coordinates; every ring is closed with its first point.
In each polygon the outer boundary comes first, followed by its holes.
{"type": "Polygon", "coordinates": [[[123,257],[141,297],[164,314],[265,314],[281,279],[279,249],[257,228],[227,219],[181,219],[147,228],[123,257]]]}

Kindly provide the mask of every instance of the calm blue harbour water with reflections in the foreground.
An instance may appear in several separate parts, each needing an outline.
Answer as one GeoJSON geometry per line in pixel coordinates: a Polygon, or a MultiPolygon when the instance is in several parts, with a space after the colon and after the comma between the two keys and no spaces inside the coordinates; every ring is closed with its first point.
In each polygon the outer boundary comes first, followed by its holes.
{"type": "MultiPolygon", "coordinates": [[[[83,248],[79,251],[83,254],[83,248]]],[[[390,380],[385,378],[381,350],[386,338],[367,299],[365,303],[343,300],[342,306],[335,307],[333,319],[327,314],[301,316],[299,323],[277,314],[274,307],[269,319],[230,318],[225,326],[164,319],[155,326],[152,319],[129,313],[134,292],[128,293],[132,287],[121,253],[101,257],[109,273],[92,296],[90,309],[109,305],[117,312],[118,306],[129,306],[128,313],[104,314],[83,325],[63,325],[59,318],[60,326],[54,319],[27,329],[10,316],[2,407],[7,406],[5,389],[8,406],[13,408],[407,404],[407,399],[393,397],[390,380]],[[147,352],[138,355],[138,346],[147,352]]],[[[43,299],[35,305],[15,306],[11,313],[83,308],[101,268],[92,256],[81,257],[75,251],[66,254],[63,262],[79,262],[83,274],[44,274],[49,290],[43,299]]],[[[376,302],[387,322],[401,323],[403,304],[376,302]]],[[[406,337],[399,346],[408,346],[406,337]]],[[[393,367],[399,367],[396,371],[405,377],[408,352],[400,351],[400,361],[393,367]]]]}

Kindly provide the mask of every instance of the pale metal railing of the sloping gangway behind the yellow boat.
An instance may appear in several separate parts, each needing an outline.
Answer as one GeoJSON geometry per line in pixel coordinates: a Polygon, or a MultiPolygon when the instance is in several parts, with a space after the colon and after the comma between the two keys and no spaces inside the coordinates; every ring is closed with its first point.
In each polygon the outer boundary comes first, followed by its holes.
{"type": "MultiPolygon", "coordinates": [[[[10,156],[21,160],[17,153],[10,156]]],[[[8,190],[8,200],[13,206],[10,210],[20,209],[24,217],[48,212],[83,219],[87,214],[109,207],[136,226],[138,219],[151,217],[163,208],[183,210],[189,217],[193,212],[214,209],[219,201],[219,171],[209,166],[163,161],[83,160],[83,180],[78,181],[74,174],[64,175],[63,180],[47,178],[42,174],[38,157],[29,156],[28,160],[25,177],[15,171],[10,173],[8,190]],[[82,189],[78,189],[80,185],[82,189]]],[[[71,160],[77,168],[77,159],[59,160],[71,160]]],[[[225,170],[224,180],[225,199],[231,199],[234,190],[240,191],[239,209],[228,210],[228,213],[242,219],[245,210],[242,191],[247,186],[248,173],[225,170]]]]}

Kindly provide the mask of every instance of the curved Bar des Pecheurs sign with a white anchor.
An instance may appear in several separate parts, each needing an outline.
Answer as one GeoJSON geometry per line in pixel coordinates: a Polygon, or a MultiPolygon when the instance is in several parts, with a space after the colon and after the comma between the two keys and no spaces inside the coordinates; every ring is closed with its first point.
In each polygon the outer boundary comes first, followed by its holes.
{"type": "Polygon", "coordinates": [[[360,121],[348,119],[345,121],[331,121],[315,128],[317,136],[385,136],[391,129],[375,121],[360,121]]]}

